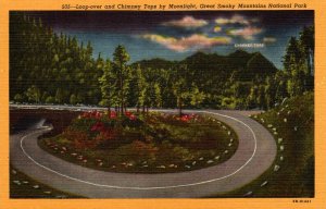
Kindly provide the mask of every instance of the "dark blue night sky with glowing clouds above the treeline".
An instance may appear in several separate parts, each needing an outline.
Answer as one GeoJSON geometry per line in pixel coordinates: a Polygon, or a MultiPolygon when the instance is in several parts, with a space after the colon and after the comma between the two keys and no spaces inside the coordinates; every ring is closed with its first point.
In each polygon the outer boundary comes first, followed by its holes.
{"type": "Polygon", "coordinates": [[[260,51],[278,69],[289,38],[314,24],[313,11],[47,11],[30,15],[41,17],[57,33],[90,41],[95,58],[101,52],[112,59],[117,45],[126,47],[130,62],[183,60],[197,51],[224,56],[244,49],[260,51]],[[243,48],[243,44],[250,45],[243,48]]]}

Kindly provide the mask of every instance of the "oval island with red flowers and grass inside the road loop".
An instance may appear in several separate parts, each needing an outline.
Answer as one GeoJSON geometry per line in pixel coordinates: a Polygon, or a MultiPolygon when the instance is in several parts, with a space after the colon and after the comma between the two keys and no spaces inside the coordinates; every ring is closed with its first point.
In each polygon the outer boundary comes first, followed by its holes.
{"type": "Polygon", "coordinates": [[[63,133],[41,138],[49,152],[84,167],[136,173],[196,170],[229,159],[236,134],[216,119],[151,112],[83,112],[63,133]]]}

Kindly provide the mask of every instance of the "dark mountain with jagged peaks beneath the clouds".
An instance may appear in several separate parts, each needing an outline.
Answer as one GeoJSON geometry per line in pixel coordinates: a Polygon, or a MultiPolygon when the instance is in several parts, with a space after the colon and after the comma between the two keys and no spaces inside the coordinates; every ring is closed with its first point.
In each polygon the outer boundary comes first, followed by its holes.
{"type": "Polygon", "coordinates": [[[230,77],[233,81],[251,82],[255,78],[264,79],[277,72],[275,65],[262,53],[249,53],[244,50],[236,50],[227,56],[200,51],[181,61],[152,59],[138,61],[135,64],[140,64],[145,69],[166,70],[180,64],[187,65],[190,77],[202,79],[202,82],[206,79],[225,82],[230,77]]]}

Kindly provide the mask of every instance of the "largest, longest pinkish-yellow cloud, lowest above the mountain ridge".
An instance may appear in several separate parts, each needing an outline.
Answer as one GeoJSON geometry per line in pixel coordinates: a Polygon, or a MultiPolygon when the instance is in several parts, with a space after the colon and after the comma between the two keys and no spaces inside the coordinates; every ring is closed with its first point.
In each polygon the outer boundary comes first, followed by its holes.
{"type": "Polygon", "coordinates": [[[227,45],[231,42],[230,37],[208,37],[201,34],[193,34],[191,36],[181,38],[174,38],[158,34],[146,34],[141,37],[153,42],[158,42],[167,49],[177,52],[211,48],[213,46],[227,45]]]}

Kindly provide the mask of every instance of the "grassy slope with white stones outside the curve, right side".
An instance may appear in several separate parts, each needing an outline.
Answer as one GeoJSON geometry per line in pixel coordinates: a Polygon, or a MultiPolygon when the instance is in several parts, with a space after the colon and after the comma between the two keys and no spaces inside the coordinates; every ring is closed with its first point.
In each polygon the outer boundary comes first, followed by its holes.
{"type": "Polygon", "coordinates": [[[288,99],[252,119],[274,135],[277,157],[273,165],[253,182],[213,197],[314,197],[313,93],[288,99]]]}

